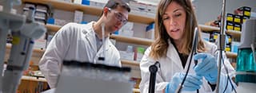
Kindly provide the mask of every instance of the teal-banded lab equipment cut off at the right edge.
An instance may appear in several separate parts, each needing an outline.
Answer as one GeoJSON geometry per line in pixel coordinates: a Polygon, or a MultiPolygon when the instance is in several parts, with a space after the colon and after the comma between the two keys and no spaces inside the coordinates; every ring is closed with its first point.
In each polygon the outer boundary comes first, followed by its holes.
{"type": "Polygon", "coordinates": [[[238,92],[254,93],[256,87],[256,19],[248,19],[242,25],[241,45],[238,46],[238,58],[235,80],[238,92]]]}

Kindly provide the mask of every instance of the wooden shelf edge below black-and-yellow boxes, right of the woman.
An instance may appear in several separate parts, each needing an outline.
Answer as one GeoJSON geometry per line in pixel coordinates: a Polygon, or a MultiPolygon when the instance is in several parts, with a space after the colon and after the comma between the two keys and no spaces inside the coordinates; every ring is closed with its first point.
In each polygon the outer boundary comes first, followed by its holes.
{"type": "MultiPolygon", "coordinates": [[[[210,26],[210,25],[199,25],[199,27],[204,32],[214,32],[214,31],[220,32],[220,29],[218,27],[214,27],[214,26],[210,26]]],[[[240,31],[227,30],[226,33],[231,35],[232,37],[235,37],[235,38],[240,38],[241,37],[241,32],[240,31]]]]}

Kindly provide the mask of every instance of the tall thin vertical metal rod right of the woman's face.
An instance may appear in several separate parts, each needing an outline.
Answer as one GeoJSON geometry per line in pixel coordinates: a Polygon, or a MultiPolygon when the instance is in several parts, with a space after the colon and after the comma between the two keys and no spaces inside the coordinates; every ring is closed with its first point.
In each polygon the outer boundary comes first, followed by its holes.
{"type": "Polygon", "coordinates": [[[217,78],[217,87],[216,87],[216,93],[219,92],[219,82],[220,82],[220,76],[221,76],[221,69],[222,69],[222,51],[225,46],[225,18],[226,18],[226,0],[223,0],[223,5],[222,5],[222,25],[221,25],[221,33],[219,35],[219,40],[218,41],[218,78],[217,78]]]}

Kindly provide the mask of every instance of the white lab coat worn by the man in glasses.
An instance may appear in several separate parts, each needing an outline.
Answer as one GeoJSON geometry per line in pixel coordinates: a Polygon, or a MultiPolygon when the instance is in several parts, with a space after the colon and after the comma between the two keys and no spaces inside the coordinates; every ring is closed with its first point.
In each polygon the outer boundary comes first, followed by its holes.
{"type": "MultiPolygon", "coordinates": [[[[39,68],[46,77],[50,87],[56,87],[62,60],[78,60],[98,63],[98,57],[103,56],[103,47],[97,52],[96,37],[93,22],[87,25],[69,23],[59,29],[50,41],[46,52],[39,62],[39,68]]],[[[121,67],[118,49],[106,38],[106,63],[121,67]]]]}

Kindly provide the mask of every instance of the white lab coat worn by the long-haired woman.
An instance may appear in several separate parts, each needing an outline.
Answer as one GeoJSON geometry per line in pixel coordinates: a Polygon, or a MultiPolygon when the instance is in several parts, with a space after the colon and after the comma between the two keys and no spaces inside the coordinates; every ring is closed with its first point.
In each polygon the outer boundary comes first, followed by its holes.
{"type": "MultiPolygon", "coordinates": [[[[169,41],[170,42],[170,41],[169,41]]],[[[206,41],[205,41],[206,42],[206,41]]],[[[207,53],[210,53],[214,56],[218,56],[217,46],[214,44],[211,44],[210,42],[206,42],[206,48],[207,53]]],[[[150,58],[150,48],[146,49],[146,52],[144,56],[142,57],[140,68],[141,68],[141,75],[142,75],[142,81],[139,85],[141,93],[148,93],[148,87],[150,82],[150,72],[149,67],[151,64],[154,64],[157,60],[153,60],[150,58]]],[[[190,59],[190,56],[188,57],[188,60],[190,59]]],[[[230,76],[234,76],[234,68],[232,68],[231,64],[229,63],[229,60],[226,59],[226,56],[224,56],[225,64],[228,68],[228,71],[230,73],[230,76]]],[[[158,69],[157,76],[156,76],[156,83],[155,83],[155,92],[156,93],[162,93],[162,90],[165,89],[167,83],[170,82],[172,77],[176,72],[186,72],[186,69],[188,68],[188,62],[186,62],[186,68],[184,69],[182,67],[182,62],[178,56],[178,52],[174,48],[174,45],[169,43],[169,47],[166,53],[166,57],[162,57],[158,60],[160,63],[160,68],[158,69]]],[[[199,61],[198,61],[199,62],[199,61]]],[[[194,61],[192,60],[191,66],[190,66],[190,73],[193,74],[194,70],[194,61]]],[[[222,66],[223,67],[223,66],[222,66]]],[[[217,71],[216,71],[217,72],[217,71]]],[[[226,73],[224,71],[224,68],[222,68],[222,73],[226,73]]],[[[220,90],[223,90],[223,88],[226,86],[226,76],[223,76],[224,78],[221,80],[221,88],[220,90]],[[225,82],[224,82],[225,81],[225,82]]],[[[228,92],[232,89],[229,83],[228,86],[228,92]]],[[[184,92],[184,91],[182,91],[184,92]]],[[[187,92],[187,91],[185,91],[187,92]]],[[[191,91],[190,91],[191,92],[191,91]]],[[[196,93],[196,91],[193,91],[196,93]]],[[[212,92],[210,85],[207,83],[206,79],[203,78],[203,84],[199,90],[200,93],[206,93],[206,92],[212,92]]]]}

